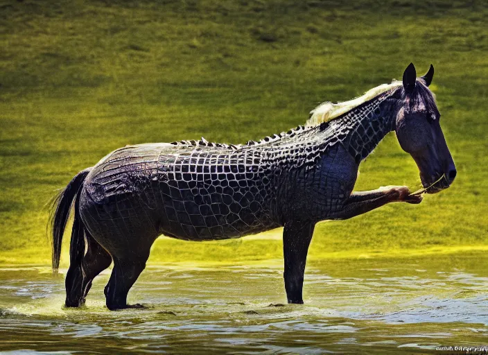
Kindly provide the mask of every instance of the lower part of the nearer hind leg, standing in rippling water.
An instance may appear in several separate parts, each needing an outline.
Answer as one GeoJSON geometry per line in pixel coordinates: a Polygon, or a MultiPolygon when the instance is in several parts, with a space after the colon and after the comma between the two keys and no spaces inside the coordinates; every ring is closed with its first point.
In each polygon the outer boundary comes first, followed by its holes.
{"type": "Polygon", "coordinates": [[[128,305],[127,294],[136,282],[137,277],[141,275],[142,270],[146,268],[149,252],[139,255],[136,259],[114,258],[114,269],[110,280],[105,286],[105,298],[107,308],[111,311],[125,308],[142,308],[141,304],[128,305]]]}

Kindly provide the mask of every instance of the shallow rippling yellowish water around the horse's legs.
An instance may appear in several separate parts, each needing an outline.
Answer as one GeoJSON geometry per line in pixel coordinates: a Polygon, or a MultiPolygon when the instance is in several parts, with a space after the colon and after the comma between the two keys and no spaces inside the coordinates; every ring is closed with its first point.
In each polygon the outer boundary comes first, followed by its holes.
{"type": "Polygon", "coordinates": [[[315,260],[304,305],[284,304],[281,261],[149,266],[129,294],[148,309],[110,312],[96,279],[64,309],[45,267],[0,269],[3,352],[446,354],[488,343],[488,256],[315,260]]]}

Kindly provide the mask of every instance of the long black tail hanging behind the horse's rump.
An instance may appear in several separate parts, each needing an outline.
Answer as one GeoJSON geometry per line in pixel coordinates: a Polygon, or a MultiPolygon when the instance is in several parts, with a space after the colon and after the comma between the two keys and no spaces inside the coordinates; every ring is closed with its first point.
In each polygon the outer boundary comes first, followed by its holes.
{"type": "Polygon", "coordinates": [[[75,205],[75,217],[73,220],[73,230],[71,231],[71,248],[69,254],[71,257],[74,257],[75,254],[82,254],[85,252],[85,238],[83,236],[82,221],[79,216],[80,202],[78,191],[80,191],[85,178],[87,178],[87,175],[91,170],[92,168],[87,168],[76,174],[76,176],[69,182],[68,186],[61,190],[53,199],[53,204],[49,211],[50,218],[48,226],[51,228],[50,234],[53,237],[53,274],[57,274],[58,268],[60,267],[62,235],[64,233],[64,228],[66,228],[73,202],[75,205]]]}

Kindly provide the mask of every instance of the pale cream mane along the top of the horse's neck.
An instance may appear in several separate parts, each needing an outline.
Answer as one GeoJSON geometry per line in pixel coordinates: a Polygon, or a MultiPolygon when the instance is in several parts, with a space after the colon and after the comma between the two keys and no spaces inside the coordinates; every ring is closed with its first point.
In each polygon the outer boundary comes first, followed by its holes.
{"type": "Polygon", "coordinates": [[[369,89],[363,96],[353,98],[352,100],[345,101],[343,103],[330,103],[324,102],[315,107],[310,114],[310,119],[306,121],[306,126],[320,125],[322,122],[330,121],[335,119],[341,114],[351,111],[354,107],[358,107],[360,104],[375,98],[383,92],[387,92],[394,87],[401,86],[401,81],[393,80],[391,84],[382,84],[377,87],[369,89]]]}

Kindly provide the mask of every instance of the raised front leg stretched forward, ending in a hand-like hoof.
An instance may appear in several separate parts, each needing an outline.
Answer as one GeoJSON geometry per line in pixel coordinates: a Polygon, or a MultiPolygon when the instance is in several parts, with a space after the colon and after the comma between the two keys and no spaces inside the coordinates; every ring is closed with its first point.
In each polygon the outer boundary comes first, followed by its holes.
{"type": "Polygon", "coordinates": [[[347,219],[376,209],[389,202],[420,203],[422,196],[410,195],[406,186],[382,187],[371,191],[351,193],[344,207],[329,219],[347,219]]]}

